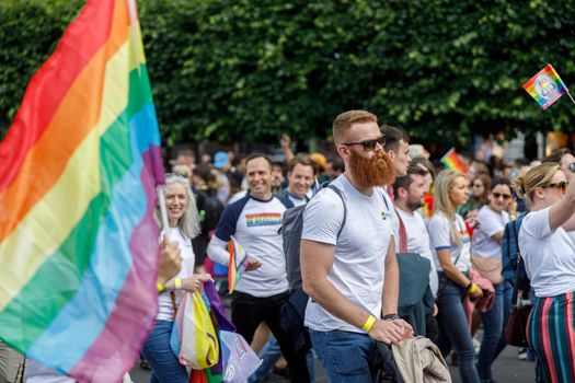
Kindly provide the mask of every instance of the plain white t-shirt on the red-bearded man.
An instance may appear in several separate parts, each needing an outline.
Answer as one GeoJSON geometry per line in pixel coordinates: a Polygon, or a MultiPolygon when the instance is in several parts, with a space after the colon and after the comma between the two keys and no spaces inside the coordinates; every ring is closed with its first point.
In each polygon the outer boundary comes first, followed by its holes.
{"type": "MultiPolygon", "coordinates": [[[[335,245],[327,279],[352,304],[380,317],[384,262],[393,235],[393,206],[386,206],[383,189],[375,188],[368,197],[344,175],[332,185],[342,192],[347,207],[342,233],[337,237],[344,219],[343,201],[334,190],[324,188],[306,207],[301,239],[335,245]]],[[[311,299],[306,309],[306,326],[320,332],[364,332],[311,299]]]]}

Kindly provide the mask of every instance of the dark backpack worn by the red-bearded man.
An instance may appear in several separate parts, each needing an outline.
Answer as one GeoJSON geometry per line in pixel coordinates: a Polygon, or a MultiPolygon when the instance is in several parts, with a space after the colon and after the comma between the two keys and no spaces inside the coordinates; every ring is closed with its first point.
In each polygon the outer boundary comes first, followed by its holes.
{"type": "MultiPolygon", "coordinates": [[[[330,189],[335,192],[340,196],[344,204],[344,220],[337,236],[344,229],[345,221],[347,218],[347,207],[342,192],[333,186],[327,186],[330,189]]],[[[286,257],[286,268],[289,280],[289,288],[294,291],[301,288],[301,266],[299,263],[299,246],[301,244],[301,232],[303,231],[303,211],[307,205],[300,205],[295,208],[287,209],[284,212],[284,219],[281,220],[281,237],[284,242],[284,255],[286,257]]]]}

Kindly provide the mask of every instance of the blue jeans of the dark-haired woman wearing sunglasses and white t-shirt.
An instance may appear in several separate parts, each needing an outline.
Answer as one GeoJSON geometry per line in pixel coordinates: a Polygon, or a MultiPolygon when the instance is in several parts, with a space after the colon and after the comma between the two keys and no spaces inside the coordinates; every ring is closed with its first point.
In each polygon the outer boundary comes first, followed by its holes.
{"type": "Polygon", "coordinates": [[[503,281],[499,285],[495,285],[494,288],[493,306],[490,311],[481,313],[483,340],[481,341],[478,360],[478,373],[482,380],[492,379],[491,364],[505,347],[503,325],[507,315],[509,315],[511,302],[509,292],[513,292],[513,288],[509,282],[503,281]]]}

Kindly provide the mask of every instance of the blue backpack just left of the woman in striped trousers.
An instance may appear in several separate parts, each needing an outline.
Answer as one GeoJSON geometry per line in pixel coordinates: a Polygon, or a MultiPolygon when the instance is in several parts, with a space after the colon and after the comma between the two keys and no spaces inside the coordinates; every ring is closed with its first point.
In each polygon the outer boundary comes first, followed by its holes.
{"type": "Polygon", "coordinates": [[[518,235],[525,216],[527,216],[527,212],[520,213],[517,219],[508,222],[503,231],[502,277],[509,281],[514,287],[517,286],[517,289],[521,290],[524,294],[527,294],[531,289],[531,281],[529,280],[529,277],[527,277],[525,263],[519,263],[519,267],[517,267],[517,262],[521,256],[521,253],[519,252],[518,235]]]}

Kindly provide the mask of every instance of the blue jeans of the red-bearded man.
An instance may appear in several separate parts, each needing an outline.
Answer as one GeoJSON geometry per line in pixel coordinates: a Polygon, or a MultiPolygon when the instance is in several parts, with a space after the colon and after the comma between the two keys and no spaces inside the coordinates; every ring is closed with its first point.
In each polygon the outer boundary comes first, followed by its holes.
{"type": "Polygon", "coordinates": [[[313,349],[331,383],[373,383],[378,369],[372,364],[376,341],[367,334],[350,332],[314,332],[310,329],[313,349]]]}

